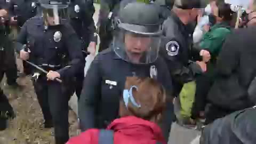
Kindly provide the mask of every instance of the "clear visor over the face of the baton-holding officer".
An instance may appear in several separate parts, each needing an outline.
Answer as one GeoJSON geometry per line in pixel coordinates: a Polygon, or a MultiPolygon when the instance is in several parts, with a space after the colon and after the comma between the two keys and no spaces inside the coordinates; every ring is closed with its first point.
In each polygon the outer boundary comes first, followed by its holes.
{"type": "Polygon", "coordinates": [[[67,19],[66,5],[42,5],[43,18],[50,25],[60,25],[62,19],[67,19]]]}

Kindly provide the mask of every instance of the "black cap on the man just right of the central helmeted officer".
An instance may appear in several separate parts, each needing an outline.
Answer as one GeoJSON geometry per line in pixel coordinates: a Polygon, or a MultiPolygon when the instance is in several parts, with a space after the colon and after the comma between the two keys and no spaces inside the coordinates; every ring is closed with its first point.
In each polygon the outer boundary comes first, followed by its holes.
{"type": "Polygon", "coordinates": [[[174,6],[179,9],[205,8],[207,5],[205,0],[175,0],[174,6]]]}

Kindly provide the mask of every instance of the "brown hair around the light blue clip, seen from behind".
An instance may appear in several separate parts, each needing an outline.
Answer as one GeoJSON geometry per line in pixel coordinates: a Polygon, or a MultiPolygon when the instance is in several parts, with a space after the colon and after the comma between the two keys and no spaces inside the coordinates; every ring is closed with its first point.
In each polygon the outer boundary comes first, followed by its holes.
{"type": "Polygon", "coordinates": [[[153,78],[127,77],[125,90],[129,90],[133,85],[138,87],[138,90],[132,90],[133,97],[141,107],[135,107],[129,102],[126,108],[123,99],[121,99],[120,116],[133,115],[148,121],[158,122],[166,103],[166,93],[163,86],[153,78]]]}

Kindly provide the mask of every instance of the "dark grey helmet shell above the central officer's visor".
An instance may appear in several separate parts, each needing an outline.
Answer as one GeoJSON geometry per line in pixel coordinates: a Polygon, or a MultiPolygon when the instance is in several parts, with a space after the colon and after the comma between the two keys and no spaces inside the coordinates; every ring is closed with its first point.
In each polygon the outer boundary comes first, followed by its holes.
{"type": "Polygon", "coordinates": [[[154,5],[130,3],[118,14],[118,28],[143,35],[159,35],[163,22],[160,16],[154,5]]]}

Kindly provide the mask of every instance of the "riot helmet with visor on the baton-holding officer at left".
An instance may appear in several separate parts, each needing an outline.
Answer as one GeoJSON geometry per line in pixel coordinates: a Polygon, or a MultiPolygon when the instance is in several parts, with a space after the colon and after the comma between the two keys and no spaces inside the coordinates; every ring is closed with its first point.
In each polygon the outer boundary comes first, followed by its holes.
{"type": "Polygon", "coordinates": [[[68,18],[67,7],[70,0],[39,0],[39,4],[47,26],[60,25],[63,19],[68,18]]]}

